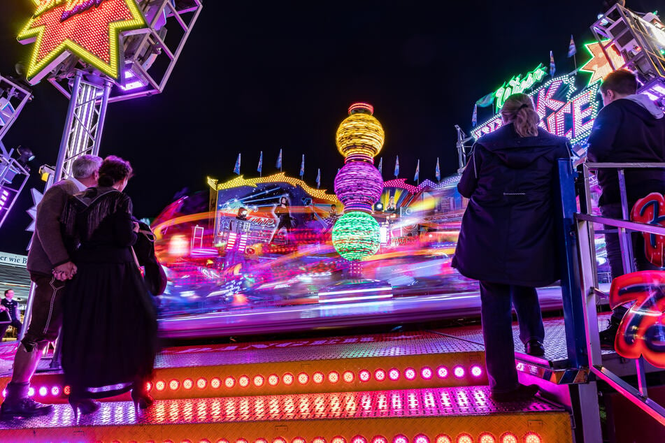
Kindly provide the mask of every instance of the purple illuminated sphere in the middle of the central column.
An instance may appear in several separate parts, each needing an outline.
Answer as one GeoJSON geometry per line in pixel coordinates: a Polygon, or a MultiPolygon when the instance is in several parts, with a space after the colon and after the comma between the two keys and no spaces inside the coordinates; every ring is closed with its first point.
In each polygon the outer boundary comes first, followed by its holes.
{"type": "Polygon", "coordinates": [[[383,191],[383,178],[373,164],[350,161],[335,177],[335,194],[344,203],[344,211],[371,212],[383,191]]]}

